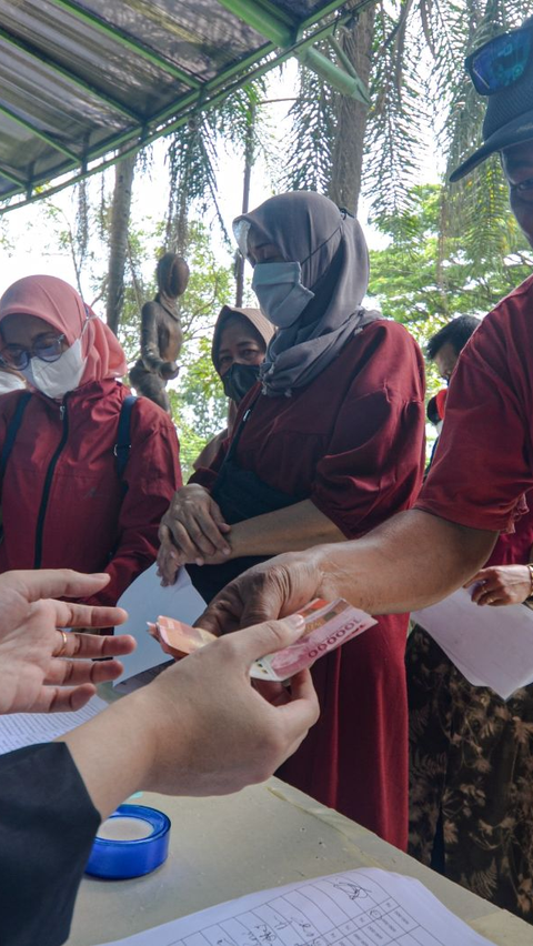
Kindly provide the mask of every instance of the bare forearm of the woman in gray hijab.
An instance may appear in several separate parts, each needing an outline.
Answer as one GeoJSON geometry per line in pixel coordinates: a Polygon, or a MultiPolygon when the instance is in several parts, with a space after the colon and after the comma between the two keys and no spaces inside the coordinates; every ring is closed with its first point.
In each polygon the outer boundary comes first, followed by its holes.
{"type": "Polygon", "coordinates": [[[341,530],[311,502],[258,515],[231,527],[231,557],[300,552],[325,542],[343,542],[341,530]]]}

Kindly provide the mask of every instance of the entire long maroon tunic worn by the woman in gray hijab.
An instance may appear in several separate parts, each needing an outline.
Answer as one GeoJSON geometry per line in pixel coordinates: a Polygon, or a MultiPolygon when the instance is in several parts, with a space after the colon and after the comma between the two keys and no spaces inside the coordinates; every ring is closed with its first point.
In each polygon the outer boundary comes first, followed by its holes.
{"type": "MultiPolygon", "coordinates": [[[[241,404],[239,420],[257,397],[241,404]]],[[[409,509],[424,466],[424,366],[411,335],[373,322],[291,397],[261,395],[237,462],[312,502],[350,539],[409,509]]],[[[228,450],[195,482],[208,489],[228,450]]],[[[280,776],[396,847],[408,836],[408,616],[391,614],[318,661],[321,716],[280,776]]]]}

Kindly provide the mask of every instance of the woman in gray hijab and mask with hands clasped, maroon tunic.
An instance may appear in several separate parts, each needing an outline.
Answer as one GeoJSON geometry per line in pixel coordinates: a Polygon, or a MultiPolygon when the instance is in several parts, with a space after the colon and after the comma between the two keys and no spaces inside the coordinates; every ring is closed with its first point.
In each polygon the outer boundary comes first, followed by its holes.
{"type": "MultiPolygon", "coordinates": [[[[276,333],[229,443],[174,495],[158,560],[169,583],[187,564],[207,600],[276,553],[358,539],[413,504],[423,472],[422,356],[403,326],[362,305],[356,220],[302,191],[271,198],[234,231],[276,333]]],[[[380,618],[318,662],[321,719],[280,772],[399,847],[406,623],[380,618]]]]}

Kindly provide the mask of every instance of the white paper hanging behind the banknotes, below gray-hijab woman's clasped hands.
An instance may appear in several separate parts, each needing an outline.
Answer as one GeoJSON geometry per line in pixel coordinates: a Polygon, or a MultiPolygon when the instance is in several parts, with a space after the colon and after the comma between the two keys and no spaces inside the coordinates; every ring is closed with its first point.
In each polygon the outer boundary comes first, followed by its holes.
{"type": "Polygon", "coordinates": [[[153,623],[161,614],[167,617],[177,617],[185,624],[194,624],[197,617],[207,607],[185,568],[180,568],[175,584],[165,588],[161,587],[161,578],[155,574],[157,568],[157,564],[147,568],[131,583],[118,602],[119,607],[125,608],[129,618],[125,624],[115,627],[114,633],[115,635],[131,634],[137,641],[137,650],[121,657],[124,673],[113,684],[120,688],[123,688],[121,684],[131,676],[137,676],[143,671],[169,661],[158,642],[148,633],[149,621],[153,623]]]}

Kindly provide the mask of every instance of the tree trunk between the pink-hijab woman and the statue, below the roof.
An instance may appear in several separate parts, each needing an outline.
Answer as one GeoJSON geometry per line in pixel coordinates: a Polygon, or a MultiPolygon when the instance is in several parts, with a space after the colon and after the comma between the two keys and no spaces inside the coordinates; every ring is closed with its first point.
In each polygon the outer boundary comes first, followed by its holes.
{"type": "Polygon", "coordinates": [[[130,223],[131,189],[137,154],[129,154],[115,164],[113,203],[109,233],[108,325],[118,333],[120,313],[124,301],[124,269],[128,255],[128,228],[130,223]]]}

